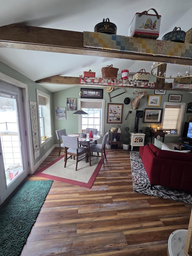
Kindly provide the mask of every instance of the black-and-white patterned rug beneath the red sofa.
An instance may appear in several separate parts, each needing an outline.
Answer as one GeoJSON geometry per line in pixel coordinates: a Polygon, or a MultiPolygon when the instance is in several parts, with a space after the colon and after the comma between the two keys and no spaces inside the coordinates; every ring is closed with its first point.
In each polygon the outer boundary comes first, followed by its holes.
{"type": "Polygon", "coordinates": [[[154,186],[151,190],[150,182],[140,158],[139,152],[130,151],[130,159],[134,192],[192,204],[192,193],[190,192],[158,185],[154,186]]]}

